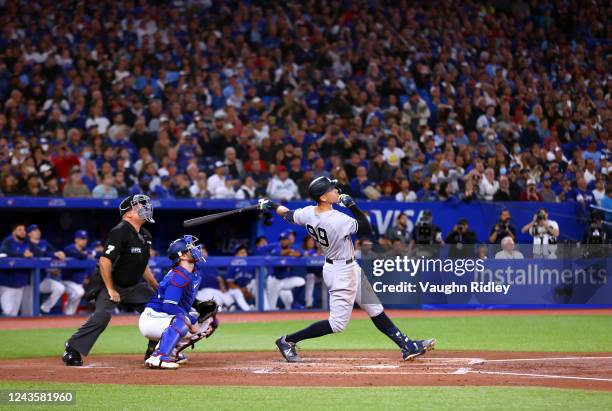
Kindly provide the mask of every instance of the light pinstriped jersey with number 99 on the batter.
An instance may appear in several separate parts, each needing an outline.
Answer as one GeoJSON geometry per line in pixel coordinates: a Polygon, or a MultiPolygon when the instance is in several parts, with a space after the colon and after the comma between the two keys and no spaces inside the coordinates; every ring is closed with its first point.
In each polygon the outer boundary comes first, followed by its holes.
{"type": "Polygon", "coordinates": [[[308,234],[321,246],[323,255],[331,260],[348,260],[355,255],[351,235],[357,232],[357,220],[337,211],[317,213],[315,206],[298,208],[293,221],[306,226],[308,234]]]}

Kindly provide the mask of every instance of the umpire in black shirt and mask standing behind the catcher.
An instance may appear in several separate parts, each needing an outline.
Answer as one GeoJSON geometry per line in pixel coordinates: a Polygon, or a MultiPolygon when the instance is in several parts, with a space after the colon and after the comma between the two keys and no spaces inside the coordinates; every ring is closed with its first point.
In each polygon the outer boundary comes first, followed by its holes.
{"type": "Polygon", "coordinates": [[[81,355],[89,354],[119,303],[142,311],[158,287],[148,265],[152,237],[142,228],[145,222],[155,222],[149,197],[127,197],[119,205],[119,213],[121,222],[110,231],[85,293],[87,300],[95,299],[96,310],[66,341],[62,357],[66,365],[83,365],[81,355]]]}

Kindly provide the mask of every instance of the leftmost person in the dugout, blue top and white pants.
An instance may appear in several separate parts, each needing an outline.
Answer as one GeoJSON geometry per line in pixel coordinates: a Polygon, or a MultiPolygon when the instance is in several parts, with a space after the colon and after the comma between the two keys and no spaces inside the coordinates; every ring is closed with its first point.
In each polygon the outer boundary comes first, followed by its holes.
{"type": "MultiPolygon", "coordinates": [[[[8,257],[31,258],[30,243],[26,239],[25,226],[13,225],[11,234],[0,245],[0,253],[8,257]]],[[[24,290],[30,282],[30,270],[12,269],[0,273],[0,307],[2,314],[16,317],[22,307],[24,290]]]]}

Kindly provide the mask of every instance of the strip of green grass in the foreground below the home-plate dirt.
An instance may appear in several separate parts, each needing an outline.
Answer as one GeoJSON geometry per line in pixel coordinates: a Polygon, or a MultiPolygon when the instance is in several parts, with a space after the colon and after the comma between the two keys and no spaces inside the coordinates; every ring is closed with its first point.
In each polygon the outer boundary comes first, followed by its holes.
{"type": "MultiPolygon", "coordinates": [[[[176,387],[0,382],[0,389],[74,390],[87,410],[612,410],[612,393],[511,387],[176,387]]],[[[6,394],[5,394],[6,395],[6,394]]],[[[17,409],[10,407],[7,409],[17,409]]],[[[44,408],[44,406],[40,407],[44,408]]],[[[48,408],[48,407],[47,407],[48,408]]],[[[29,409],[19,406],[19,409],[29,409]]]]}

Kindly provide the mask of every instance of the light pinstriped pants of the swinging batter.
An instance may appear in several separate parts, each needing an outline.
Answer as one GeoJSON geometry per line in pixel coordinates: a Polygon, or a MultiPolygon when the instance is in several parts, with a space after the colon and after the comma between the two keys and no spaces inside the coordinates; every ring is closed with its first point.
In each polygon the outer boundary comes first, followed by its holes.
{"type": "Polygon", "coordinates": [[[329,325],[335,333],[346,328],[355,303],[370,317],[384,310],[357,262],[325,263],[323,281],[329,289],[329,325]]]}

